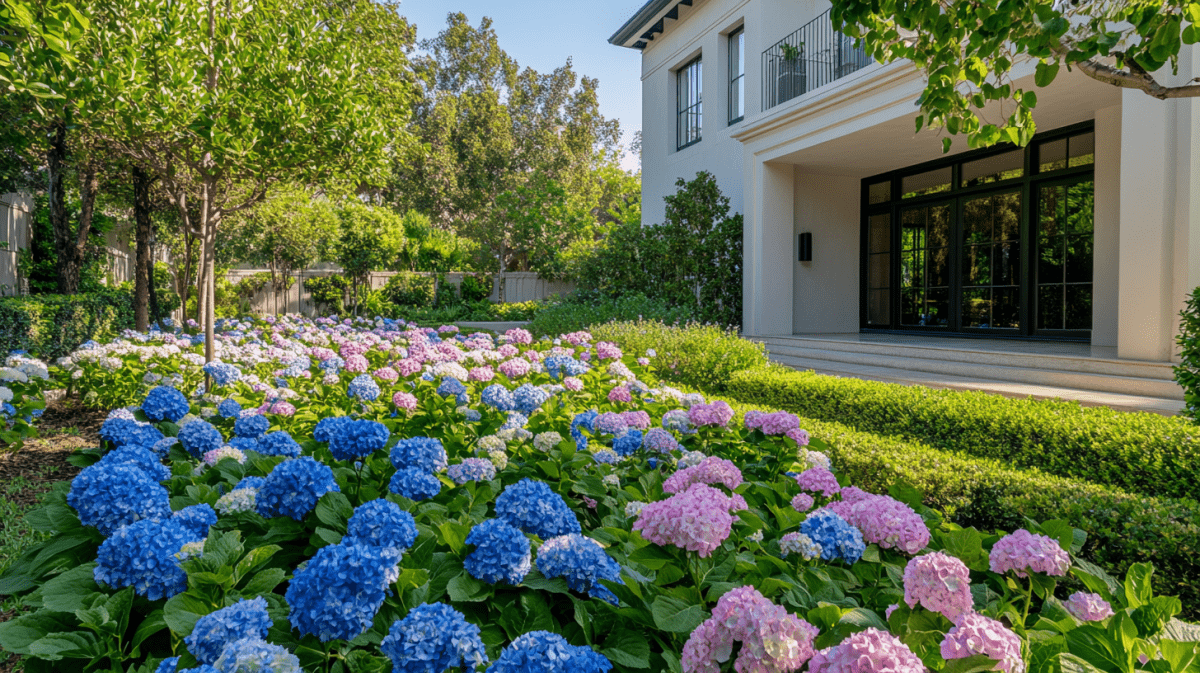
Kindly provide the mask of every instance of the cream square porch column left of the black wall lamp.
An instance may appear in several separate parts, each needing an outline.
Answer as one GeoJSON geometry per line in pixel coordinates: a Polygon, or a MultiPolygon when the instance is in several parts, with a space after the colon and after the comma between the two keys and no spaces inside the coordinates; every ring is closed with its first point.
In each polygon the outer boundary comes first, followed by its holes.
{"type": "Polygon", "coordinates": [[[748,157],[743,239],[743,329],[748,336],[792,334],[794,169],[748,157]]]}

